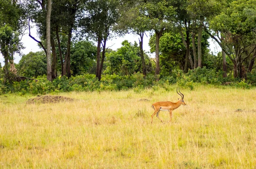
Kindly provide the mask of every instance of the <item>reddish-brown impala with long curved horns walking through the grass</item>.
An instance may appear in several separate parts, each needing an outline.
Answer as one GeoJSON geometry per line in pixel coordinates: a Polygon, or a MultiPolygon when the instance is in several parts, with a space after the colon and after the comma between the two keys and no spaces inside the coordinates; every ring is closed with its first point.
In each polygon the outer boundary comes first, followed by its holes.
{"type": "MultiPolygon", "coordinates": [[[[178,88],[177,88],[177,93],[178,93],[178,88]]],[[[179,89],[180,92],[180,89],[179,89]]],[[[159,118],[159,120],[164,124],[164,122],[162,121],[162,119],[159,117],[159,112],[160,111],[168,111],[170,113],[170,122],[172,121],[172,110],[177,109],[178,107],[180,107],[180,105],[186,105],[186,103],[183,101],[184,95],[180,92],[178,93],[181,96],[181,99],[176,102],[173,103],[171,101],[158,101],[155,102],[154,104],[152,104],[152,108],[154,109],[154,113],[151,115],[151,123],[153,123],[153,117],[154,115],[157,114],[157,118],[159,118]]]]}

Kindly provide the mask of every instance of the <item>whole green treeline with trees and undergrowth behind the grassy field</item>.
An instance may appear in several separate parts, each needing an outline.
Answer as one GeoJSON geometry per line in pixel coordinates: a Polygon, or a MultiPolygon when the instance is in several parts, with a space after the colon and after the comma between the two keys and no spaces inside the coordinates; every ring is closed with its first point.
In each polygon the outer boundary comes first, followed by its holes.
{"type": "Polygon", "coordinates": [[[256,0],[0,0],[5,63],[0,91],[36,94],[174,83],[192,88],[195,82],[248,88],[256,85],[255,31],[256,0]],[[22,55],[15,64],[25,30],[42,51],[22,55]],[[128,33],[137,35],[139,44],[125,40],[116,51],[106,45],[128,33]],[[145,36],[150,36],[154,58],[143,50],[145,36]],[[211,53],[208,39],[222,51],[211,53]]]}

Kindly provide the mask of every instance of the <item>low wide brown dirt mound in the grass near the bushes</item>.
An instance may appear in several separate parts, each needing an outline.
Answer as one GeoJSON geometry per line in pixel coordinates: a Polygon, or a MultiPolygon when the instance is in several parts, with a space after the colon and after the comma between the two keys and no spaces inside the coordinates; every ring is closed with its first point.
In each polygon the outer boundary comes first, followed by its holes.
{"type": "Polygon", "coordinates": [[[29,99],[28,104],[33,103],[58,103],[60,101],[74,101],[74,99],[63,96],[37,96],[34,99],[29,99]]]}

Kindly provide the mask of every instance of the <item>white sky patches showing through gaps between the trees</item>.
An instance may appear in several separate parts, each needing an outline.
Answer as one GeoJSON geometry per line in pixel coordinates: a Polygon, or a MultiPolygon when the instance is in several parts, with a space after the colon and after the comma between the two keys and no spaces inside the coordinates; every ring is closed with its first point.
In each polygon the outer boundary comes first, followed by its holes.
{"type": "MultiPolygon", "coordinates": [[[[37,37],[37,33],[36,33],[36,28],[32,28],[31,29],[31,35],[33,37],[35,37],[36,39],[39,40],[39,38],[37,37]]],[[[149,42],[149,38],[150,38],[150,33],[146,33],[147,36],[144,36],[143,38],[143,49],[144,51],[149,53],[149,56],[154,57],[154,54],[150,54],[150,47],[148,45],[149,42]]],[[[139,36],[138,35],[134,35],[134,34],[126,34],[124,37],[116,37],[113,38],[111,40],[107,41],[107,47],[111,48],[112,50],[116,50],[120,47],[122,47],[122,42],[124,40],[128,40],[128,42],[132,42],[134,44],[134,41],[137,42],[137,44],[139,44],[139,36]]],[[[213,39],[208,39],[209,44],[210,44],[210,51],[213,52],[213,54],[217,55],[217,53],[219,51],[221,51],[220,47],[218,46],[218,44],[213,40],[213,39]]],[[[39,48],[37,42],[35,42],[31,37],[29,37],[29,31],[26,31],[26,34],[23,35],[21,42],[23,42],[24,45],[24,49],[21,51],[22,54],[28,54],[29,52],[37,52],[37,51],[41,51],[41,49],[39,48]]],[[[97,42],[95,42],[95,45],[97,45],[97,42]]],[[[15,63],[19,63],[21,56],[19,55],[15,55],[15,59],[14,62],[15,63]]],[[[4,65],[4,59],[2,54],[0,54],[0,62],[1,65],[4,65]]]]}

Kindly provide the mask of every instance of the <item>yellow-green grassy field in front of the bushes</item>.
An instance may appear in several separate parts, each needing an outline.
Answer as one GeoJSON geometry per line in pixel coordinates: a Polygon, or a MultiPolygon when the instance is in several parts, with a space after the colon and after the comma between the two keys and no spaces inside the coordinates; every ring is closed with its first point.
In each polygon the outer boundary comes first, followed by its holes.
{"type": "Polygon", "coordinates": [[[151,104],[176,102],[175,90],[60,93],[76,101],[57,104],[2,95],[0,168],[256,168],[255,88],[183,89],[172,123],[151,124],[151,104]]]}

